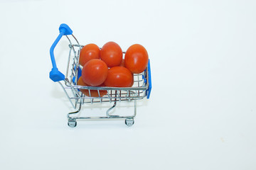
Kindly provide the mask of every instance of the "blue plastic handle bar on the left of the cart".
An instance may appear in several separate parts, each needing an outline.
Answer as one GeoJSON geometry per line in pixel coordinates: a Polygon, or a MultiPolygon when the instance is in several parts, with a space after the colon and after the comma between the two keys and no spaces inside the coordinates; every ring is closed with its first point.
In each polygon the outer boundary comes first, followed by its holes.
{"type": "Polygon", "coordinates": [[[58,68],[57,68],[57,65],[55,62],[55,57],[53,54],[53,50],[63,35],[71,35],[73,33],[73,31],[70,29],[70,27],[65,23],[60,24],[59,30],[60,30],[60,34],[58,35],[56,40],[53,42],[53,45],[50,47],[50,60],[53,64],[53,69],[50,71],[50,79],[53,80],[54,82],[64,80],[65,75],[62,74],[60,71],[58,71],[58,68]]]}

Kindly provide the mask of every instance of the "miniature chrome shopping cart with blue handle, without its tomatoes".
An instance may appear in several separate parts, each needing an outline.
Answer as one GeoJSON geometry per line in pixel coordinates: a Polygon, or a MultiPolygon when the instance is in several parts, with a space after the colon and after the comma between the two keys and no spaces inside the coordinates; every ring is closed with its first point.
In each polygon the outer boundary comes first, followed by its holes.
{"type": "MultiPolygon", "coordinates": [[[[79,64],[80,50],[84,45],[80,45],[78,40],[73,35],[73,31],[66,25],[60,25],[60,34],[58,38],[53,42],[53,45],[50,47],[50,59],[53,64],[53,69],[50,71],[50,79],[55,82],[58,82],[68,96],[68,100],[75,109],[74,112],[68,113],[68,125],[70,127],[75,127],[77,125],[78,119],[124,119],[127,126],[132,126],[134,124],[134,117],[136,115],[137,109],[137,100],[142,98],[149,98],[151,92],[151,73],[150,73],[150,64],[141,74],[134,74],[134,85],[132,87],[98,87],[98,86],[78,86],[78,79],[81,76],[82,66],[79,64]],[[70,42],[69,55],[68,55],[68,65],[65,72],[65,75],[58,71],[58,68],[55,63],[55,57],[53,55],[53,50],[57,43],[60,41],[60,38],[65,35],[70,42]],[[71,36],[68,36],[71,35],[71,36]],[[71,39],[72,38],[72,39],[71,39]],[[73,40],[75,43],[72,43],[73,40]],[[80,89],[87,89],[89,95],[85,96],[82,94],[80,89]],[[90,91],[96,90],[99,96],[92,97],[90,91]],[[100,96],[100,90],[107,91],[105,96],[100,96]],[[117,105],[117,102],[121,101],[134,101],[134,114],[133,115],[112,115],[110,111],[117,105]],[[103,103],[109,102],[113,103],[112,107],[109,108],[104,116],[87,116],[82,117],[78,116],[81,106],[85,103],[103,103]]],[[[125,53],[125,52],[123,52],[125,53]]]]}

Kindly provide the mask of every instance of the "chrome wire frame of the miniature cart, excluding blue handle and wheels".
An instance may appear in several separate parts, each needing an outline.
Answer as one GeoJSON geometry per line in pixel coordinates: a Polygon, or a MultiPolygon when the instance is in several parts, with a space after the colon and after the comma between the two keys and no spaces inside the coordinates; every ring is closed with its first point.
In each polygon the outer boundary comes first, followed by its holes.
{"type": "MultiPolygon", "coordinates": [[[[78,86],[78,70],[82,69],[79,64],[80,50],[84,45],[80,45],[78,40],[72,35],[75,39],[75,44],[73,44],[68,38],[70,42],[70,52],[68,55],[68,64],[65,73],[65,80],[58,83],[62,87],[63,91],[65,91],[68,100],[70,101],[73,108],[76,110],[72,113],[68,113],[69,120],[76,119],[102,119],[102,118],[134,118],[137,110],[137,100],[142,99],[146,96],[146,89],[148,89],[149,79],[148,79],[148,69],[141,74],[134,74],[134,85],[132,87],[108,87],[108,86],[78,86]],[[80,89],[88,90],[89,94],[91,91],[97,91],[99,96],[85,96],[82,94],[80,89]],[[107,91],[105,96],[100,96],[100,91],[107,91]],[[127,116],[120,115],[112,115],[110,111],[117,106],[117,101],[134,101],[134,114],[127,116]],[[79,113],[81,110],[81,106],[84,103],[102,103],[102,102],[114,102],[113,106],[109,108],[106,112],[106,116],[99,117],[78,117],[71,116],[75,113],[79,113]]],[[[123,52],[125,54],[125,52],[123,52]]]]}

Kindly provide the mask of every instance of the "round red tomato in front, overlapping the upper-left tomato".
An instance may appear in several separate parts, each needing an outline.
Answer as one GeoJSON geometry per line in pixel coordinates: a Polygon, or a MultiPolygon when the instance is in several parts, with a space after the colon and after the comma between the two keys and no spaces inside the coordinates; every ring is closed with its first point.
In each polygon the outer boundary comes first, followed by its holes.
{"type": "Polygon", "coordinates": [[[100,59],[92,59],[82,68],[82,81],[89,86],[100,86],[107,79],[107,64],[100,59]]]}

